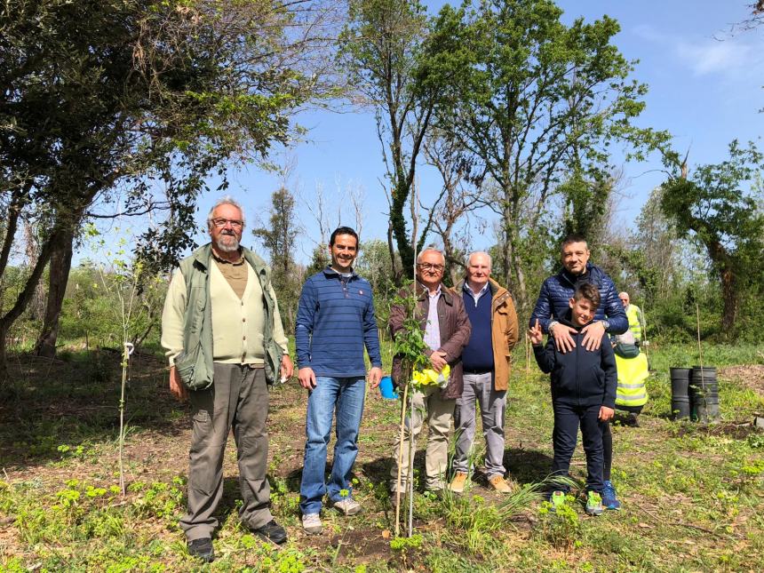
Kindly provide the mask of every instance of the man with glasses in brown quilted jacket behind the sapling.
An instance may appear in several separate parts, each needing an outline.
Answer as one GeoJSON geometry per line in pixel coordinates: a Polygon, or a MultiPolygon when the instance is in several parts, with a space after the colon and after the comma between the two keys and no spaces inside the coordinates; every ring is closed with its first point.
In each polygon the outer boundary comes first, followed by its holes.
{"type": "MultiPolygon", "coordinates": [[[[428,386],[424,391],[413,394],[414,409],[406,420],[406,434],[403,442],[396,443],[394,465],[391,470],[391,489],[393,503],[397,503],[398,460],[403,448],[403,460],[408,460],[411,444],[421,432],[425,415],[429,434],[427,435],[427,450],[425,456],[426,489],[440,494],[445,488],[445,475],[449,462],[449,434],[454,418],[456,400],[462,394],[462,349],[470,338],[470,322],[465,311],[462,298],[453,290],[442,284],[445,258],[441,251],[427,249],[422,251],[417,259],[417,282],[409,289],[414,289],[418,298],[417,317],[422,330],[425,331],[426,354],[430,359],[433,370],[440,372],[446,364],[450,365],[448,386],[441,389],[438,386],[428,386]]],[[[401,297],[410,295],[409,289],[399,292],[401,297]]],[[[406,310],[402,305],[390,308],[389,327],[393,337],[402,330],[406,318],[406,310]]],[[[400,356],[393,359],[393,378],[398,386],[408,383],[403,380],[400,356]]],[[[401,468],[402,491],[406,489],[409,480],[408,463],[401,468]]]]}

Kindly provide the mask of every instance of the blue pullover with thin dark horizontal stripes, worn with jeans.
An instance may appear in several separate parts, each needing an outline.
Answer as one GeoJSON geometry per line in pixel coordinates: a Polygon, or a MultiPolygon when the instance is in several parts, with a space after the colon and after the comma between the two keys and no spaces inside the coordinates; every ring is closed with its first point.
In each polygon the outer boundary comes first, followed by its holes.
{"type": "Polygon", "coordinates": [[[299,368],[316,376],[366,376],[363,348],[372,366],[382,366],[371,285],[353,273],[349,278],[326,267],[302,287],[295,343],[299,368]]]}

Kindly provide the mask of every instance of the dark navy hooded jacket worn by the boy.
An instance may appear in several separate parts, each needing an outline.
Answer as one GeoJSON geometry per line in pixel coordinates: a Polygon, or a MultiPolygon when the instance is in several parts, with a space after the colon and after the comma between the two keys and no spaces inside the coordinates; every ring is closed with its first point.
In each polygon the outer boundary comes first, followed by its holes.
{"type": "Polygon", "coordinates": [[[546,341],[546,346],[533,346],[538,368],[545,374],[552,373],[552,400],[571,406],[615,408],[618,375],[609,336],[607,333],[602,335],[599,350],[586,350],[581,333],[584,327],[575,326],[569,319],[570,311],[560,322],[577,330],[576,334],[571,334],[576,342],[573,350],[562,354],[552,337],[546,341]]]}

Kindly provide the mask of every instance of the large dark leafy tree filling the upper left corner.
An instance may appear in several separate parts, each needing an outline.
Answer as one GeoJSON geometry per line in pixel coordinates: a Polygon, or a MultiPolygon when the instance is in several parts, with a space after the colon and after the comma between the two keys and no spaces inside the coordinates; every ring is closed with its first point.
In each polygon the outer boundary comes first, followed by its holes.
{"type": "MultiPolygon", "coordinates": [[[[320,4],[10,0],[0,7],[0,193],[8,221],[0,274],[20,214],[49,221],[27,283],[0,317],[0,364],[5,334],[44,267],[52,261],[51,275],[65,287],[71,243],[104,205],[122,197],[126,214],[157,202],[170,209],[139,244],[145,265],[169,267],[192,243],[204,178],[290,141],[290,115],[320,89],[312,67],[328,41],[316,21],[320,4]]],[[[54,331],[42,339],[54,345],[54,331]]]]}

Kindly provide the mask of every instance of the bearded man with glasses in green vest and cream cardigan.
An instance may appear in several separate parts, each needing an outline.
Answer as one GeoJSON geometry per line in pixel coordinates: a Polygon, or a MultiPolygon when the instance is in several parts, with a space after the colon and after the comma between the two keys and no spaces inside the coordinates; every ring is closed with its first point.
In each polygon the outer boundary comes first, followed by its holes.
{"type": "Polygon", "coordinates": [[[180,520],[188,553],[215,559],[212,533],[223,497],[223,455],[233,427],[243,504],[239,520],[274,543],[285,529],[270,512],[268,390],[293,371],[265,262],[241,245],[244,213],[223,197],[207,217],[211,243],[183,259],[162,313],[170,391],[191,401],[188,512],[180,520]]]}

